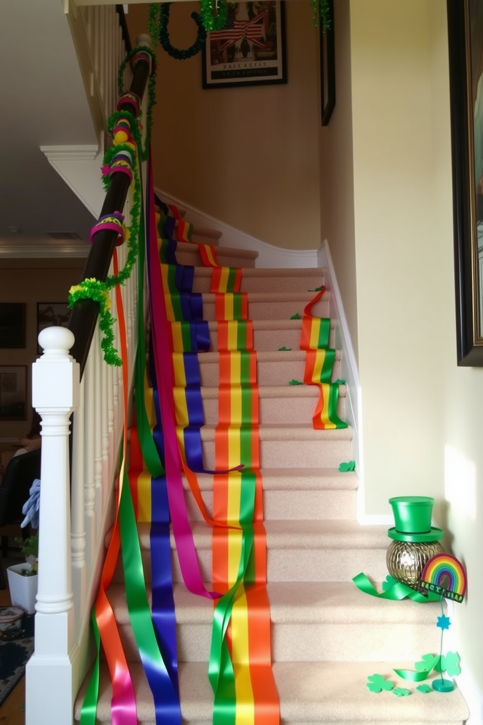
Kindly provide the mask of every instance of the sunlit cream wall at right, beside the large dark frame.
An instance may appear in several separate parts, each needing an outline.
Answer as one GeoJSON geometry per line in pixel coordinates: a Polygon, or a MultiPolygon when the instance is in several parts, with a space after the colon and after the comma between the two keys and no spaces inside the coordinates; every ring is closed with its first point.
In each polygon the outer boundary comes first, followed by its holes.
{"type": "Polygon", "coordinates": [[[350,0],[350,43],[366,511],[437,499],[469,576],[463,671],[483,690],[483,369],[456,365],[446,2],[350,0]]]}

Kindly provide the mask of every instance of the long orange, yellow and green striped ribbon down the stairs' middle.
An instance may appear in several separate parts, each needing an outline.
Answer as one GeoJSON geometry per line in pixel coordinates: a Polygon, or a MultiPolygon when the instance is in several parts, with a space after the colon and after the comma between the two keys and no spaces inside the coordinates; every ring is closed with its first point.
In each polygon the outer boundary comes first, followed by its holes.
{"type": "Polygon", "coordinates": [[[266,539],[259,462],[259,391],[253,326],[246,294],[217,294],[219,422],[216,476],[214,586],[224,593],[214,612],[209,677],[214,725],[278,725],[280,708],[271,661],[266,596],[266,539]]]}

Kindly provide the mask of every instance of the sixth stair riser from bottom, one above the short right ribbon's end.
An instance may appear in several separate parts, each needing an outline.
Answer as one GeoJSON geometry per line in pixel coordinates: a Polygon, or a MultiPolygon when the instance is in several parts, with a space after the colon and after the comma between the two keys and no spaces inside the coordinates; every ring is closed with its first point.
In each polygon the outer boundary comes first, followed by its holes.
{"type": "MultiPolygon", "coordinates": [[[[280,360],[276,362],[257,360],[256,373],[259,387],[264,385],[287,385],[289,380],[303,380],[305,357],[301,357],[301,360],[283,360],[284,355],[284,352],[280,352],[280,360]]],[[[206,363],[203,360],[202,352],[200,352],[198,358],[200,361],[201,385],[218,386],[219,363],[217,361],[206,363]]],[[[335,360],[332,368],[332,381],[339,378],[340,360],[335,360]]]]}

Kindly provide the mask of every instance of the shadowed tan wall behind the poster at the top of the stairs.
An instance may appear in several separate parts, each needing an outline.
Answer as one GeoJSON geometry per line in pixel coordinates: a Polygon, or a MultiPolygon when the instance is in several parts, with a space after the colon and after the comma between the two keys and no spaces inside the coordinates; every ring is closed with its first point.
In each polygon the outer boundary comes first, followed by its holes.
{"type": "MultiPolygon", "coordinates": [[[[197,3],[171,6],[173,45],[189,46],[197,3]]],[[[130,36],[146,32],[132,5],[130,36]]],[[[201,54],[176,61],[161,49],[154,109],[156,186],[269,244],[320,245],[317,30],[307,0],[287,2],[287,85],[201,88],[201,54]]]]}

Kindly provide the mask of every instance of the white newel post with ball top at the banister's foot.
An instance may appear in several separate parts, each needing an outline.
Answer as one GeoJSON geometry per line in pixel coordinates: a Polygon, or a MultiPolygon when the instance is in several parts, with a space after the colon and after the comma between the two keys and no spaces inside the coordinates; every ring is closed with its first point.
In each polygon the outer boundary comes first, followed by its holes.
{"type": "Polygon", "coordinates": [[[35,652],[26,671],[26,725],[70,725],[75,694],[70,554],[70,413],[79,402],[79,365],[70,330],[51,327],[32,366],[33,407],[42,418],[41,507],[35,652]]]}

